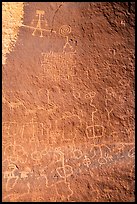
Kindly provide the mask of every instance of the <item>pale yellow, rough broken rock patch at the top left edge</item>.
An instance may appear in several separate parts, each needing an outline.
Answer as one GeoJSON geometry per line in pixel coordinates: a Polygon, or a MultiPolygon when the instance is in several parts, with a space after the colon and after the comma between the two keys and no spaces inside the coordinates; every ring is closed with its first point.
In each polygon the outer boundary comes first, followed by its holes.
{"type": "Polygon", "coordinates": [[[23,2],[2,3],[2,62],[6,62],[9,53],[17,40],[19,26],[23,18],[23,2]]]}

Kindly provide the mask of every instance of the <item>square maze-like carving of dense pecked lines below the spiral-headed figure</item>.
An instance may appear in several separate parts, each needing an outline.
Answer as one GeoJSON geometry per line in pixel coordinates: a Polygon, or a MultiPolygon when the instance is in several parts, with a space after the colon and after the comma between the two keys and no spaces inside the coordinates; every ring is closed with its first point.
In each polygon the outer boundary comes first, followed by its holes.
{"type": "Polygon", "coordinates": [[[42,53],[41,66],[44,77],[53,82],[72,80],[76,67],[75,52],[42,53]]]}

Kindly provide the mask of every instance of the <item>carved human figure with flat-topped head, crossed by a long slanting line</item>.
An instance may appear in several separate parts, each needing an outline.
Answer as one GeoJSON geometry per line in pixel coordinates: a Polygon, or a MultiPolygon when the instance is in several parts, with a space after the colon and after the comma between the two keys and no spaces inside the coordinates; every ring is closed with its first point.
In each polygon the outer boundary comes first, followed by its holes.
{"type": "Polygon", "coordinates": [[[32,35],[37,36],[36,33],[40,33],[39,37],[44,37],[44,32],[56,33],[53,29],[48,29],[48,23],[45,19],[44,10],[36,10],[36,16],[31,22],[32,25],[22,25],[23,27],[30,28],[33,30],[32,35]]]}

